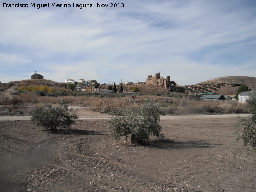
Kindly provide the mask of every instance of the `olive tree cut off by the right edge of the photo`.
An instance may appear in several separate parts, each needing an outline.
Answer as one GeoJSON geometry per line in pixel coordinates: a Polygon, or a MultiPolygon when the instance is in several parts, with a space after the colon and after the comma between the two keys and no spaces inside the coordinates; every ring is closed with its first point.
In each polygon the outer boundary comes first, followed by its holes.
{"type": "Polygon", "coordinates": [[[237,140],[242,139],[244,145],[250,145],[256,150],[256,92],[249,93],[246,107],[252,115],[247,118],[238,117],[239,121],[236,124],[237,131],[235,134],[237,135],[237,140]]]}

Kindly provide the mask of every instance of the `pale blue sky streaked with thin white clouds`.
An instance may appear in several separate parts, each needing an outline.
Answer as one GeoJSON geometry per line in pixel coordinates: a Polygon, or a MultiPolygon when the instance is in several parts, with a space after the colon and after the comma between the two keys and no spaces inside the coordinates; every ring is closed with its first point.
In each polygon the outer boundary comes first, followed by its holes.
{"type": "Polygon", "coordinates": [[[56,82],[101,84],[145,81],[158,72],[178,85],[256,77],[254,0],[0,0],[0,26],[2,83],[31,79],[35,71],[56,82]],[[50,7],[30,7],[38,2],[50,7]]]}

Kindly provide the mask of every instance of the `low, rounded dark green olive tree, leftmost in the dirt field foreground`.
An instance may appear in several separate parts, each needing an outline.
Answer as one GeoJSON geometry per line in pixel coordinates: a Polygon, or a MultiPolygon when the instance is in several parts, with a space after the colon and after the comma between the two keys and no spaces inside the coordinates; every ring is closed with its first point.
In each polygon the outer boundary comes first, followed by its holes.
{"type": "Polygon", "coordinates": [[[42,126],[45,129],[56,131],[58,127],[70,129],[71,124],[75,124],[77,115],[72,109],[68,109],[68,104],[64,99],[59,100],[59,104],[53,107],[51,103],[45,106],[36,107],[32,111],[31,121],[36,123],[36,126],[42,126]]]}

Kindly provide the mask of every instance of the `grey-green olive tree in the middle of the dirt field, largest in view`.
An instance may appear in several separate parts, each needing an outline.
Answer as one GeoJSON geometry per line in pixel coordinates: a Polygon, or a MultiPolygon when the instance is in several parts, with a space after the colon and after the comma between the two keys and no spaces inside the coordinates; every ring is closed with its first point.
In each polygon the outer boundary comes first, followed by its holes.
{"type": "Polygon", "coordinates": [[[112,137],[119,141],[122,136],[126,139],[131,134],[131,143],[143,144],[150,135],[160,136],[160,114],[162,111],[157,103],[147,99],[138,111],[129,109],[117,112],[108,121],[112,128],[112,137]]]}

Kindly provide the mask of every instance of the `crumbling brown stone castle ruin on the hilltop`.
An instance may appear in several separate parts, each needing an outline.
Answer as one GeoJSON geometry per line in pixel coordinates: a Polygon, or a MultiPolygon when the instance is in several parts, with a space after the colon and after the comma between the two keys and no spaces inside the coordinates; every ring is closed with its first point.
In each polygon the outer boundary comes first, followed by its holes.
{"type": "Polygon", "coordinates": [[[160,76],[160,73],[156,73],[154,76],[148,75],[146,84],[157,85],[158,87],[164,88],[171,92],[185,93],[184,87],[176,86],[177,84],[174,81],[171,81],[170,76],[167,76],[164,79],[162,76],[160,76]]]}

